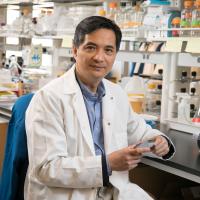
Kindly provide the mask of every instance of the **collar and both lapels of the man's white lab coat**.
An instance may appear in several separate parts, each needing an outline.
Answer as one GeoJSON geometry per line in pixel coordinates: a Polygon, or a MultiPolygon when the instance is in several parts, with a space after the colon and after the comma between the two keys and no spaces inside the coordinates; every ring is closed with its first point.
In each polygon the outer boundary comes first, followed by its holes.
{"type": "MultiPolygon", "coordinates": [[[[74,94],[73,105],[80,123],[81,131],[86,139],[89,149],[91,150],[92,154],[95,155],[94,143],[87,110],[85,107],[83,95],[75,77],[75,65],[73,65],[72,68],[64,74],[64,76],[64,84],[66,86],[64,87],[64,94],[74,94]]],[[[103,79],[103,83],[106,90],[106,95],[103,97],[102,101],[104,146],[106,153],[109,153],[112,151],[112,129],[116,103],[115,97],[110,91],[107,80],[103,79]]]]}

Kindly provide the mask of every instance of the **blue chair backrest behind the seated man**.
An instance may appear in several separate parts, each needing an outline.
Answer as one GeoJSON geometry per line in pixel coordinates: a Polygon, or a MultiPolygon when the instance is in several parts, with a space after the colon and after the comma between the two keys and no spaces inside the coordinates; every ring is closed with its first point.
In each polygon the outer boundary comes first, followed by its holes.
{"type": "Polygon", "coordinates": [[[12,109],[0,179],[1,200],[24,200],[24,181],[28,168],[25,112],[32,97],[33,94],[20,97],[12,109]]]}

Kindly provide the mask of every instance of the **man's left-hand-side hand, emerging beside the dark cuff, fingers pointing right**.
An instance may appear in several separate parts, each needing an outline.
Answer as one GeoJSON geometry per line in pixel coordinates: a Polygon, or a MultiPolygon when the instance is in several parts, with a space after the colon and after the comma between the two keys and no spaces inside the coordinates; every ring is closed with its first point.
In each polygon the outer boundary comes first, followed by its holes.
{"type": "Polygon", "coordinates": [[[150,148],[129,146],[108,155],[112,171],[126,171],[135,168],[141,160],[142,154],[150,152],[150,148]]]}

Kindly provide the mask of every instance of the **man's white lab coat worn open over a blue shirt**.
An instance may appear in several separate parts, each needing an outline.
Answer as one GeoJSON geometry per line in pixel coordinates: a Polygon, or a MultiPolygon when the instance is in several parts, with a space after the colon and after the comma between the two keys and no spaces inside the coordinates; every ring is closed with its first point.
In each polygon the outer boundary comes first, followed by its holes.
{"type": "MultiPolygon", "coordinates": [[[[144,120],[133,113],[120,86],[103,80],[103,131],[109,154],[154,135],[144,120]]],[[[72,67],[33,97],[26,112],[29,168],[26,200],[95,200],[103,185],[101,156],[95,155],[83,96],[72,67]]],[[[113,171],[114,200],[152,199],[128,172],[113,171]]]]}

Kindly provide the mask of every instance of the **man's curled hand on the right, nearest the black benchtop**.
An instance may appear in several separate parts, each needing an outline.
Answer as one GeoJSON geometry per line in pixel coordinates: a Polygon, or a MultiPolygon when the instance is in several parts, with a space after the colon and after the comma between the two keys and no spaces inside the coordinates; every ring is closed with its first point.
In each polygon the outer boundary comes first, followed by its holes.
{"type": "Polygon", "coordinates": [[[161,135],[156,136],[153,138],[154,146],[151,148],[152,153],[156,154],[157,156],[164,156],[169,152],[169,146],[167,139],[161,135]]]}

